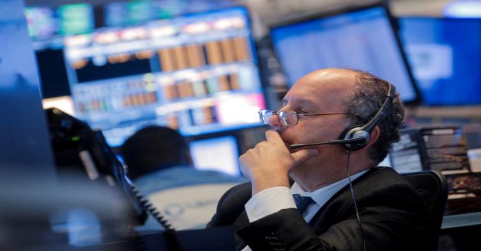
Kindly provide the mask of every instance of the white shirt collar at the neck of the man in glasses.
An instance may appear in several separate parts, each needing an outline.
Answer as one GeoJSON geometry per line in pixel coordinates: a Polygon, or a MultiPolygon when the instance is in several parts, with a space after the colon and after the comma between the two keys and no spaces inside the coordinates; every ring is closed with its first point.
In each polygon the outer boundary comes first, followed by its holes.
{"type": "MultiPolygon", "coordinates": [[[[369,169],[356,173],[355,175],[351,175],[350,179],[353,181],[357,179],[359,176],[366,173],[369,169]]],[[[291,186],[291,193],[292,194],[299,194],[301,196],[308,196],[313,198],[316,204],[323,206],[335,193],[341,190],[344,186],[349,183],[348,177],[339,180],[338,182],[334,182],[333,184],[329,184],[328,186],[323,186],[322,188],[318,188],[317,190],[313,190],[312,192],[307,192],[302,190],[297,183],[294,183],[291,186]]]]}

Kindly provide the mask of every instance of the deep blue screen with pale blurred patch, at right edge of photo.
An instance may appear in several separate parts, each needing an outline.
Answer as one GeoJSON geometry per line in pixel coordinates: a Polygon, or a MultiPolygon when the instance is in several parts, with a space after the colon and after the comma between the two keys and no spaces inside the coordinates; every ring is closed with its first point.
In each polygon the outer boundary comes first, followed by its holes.
{"type": "Polygon", "coordinates": [[[481,104],[481,19],[405,17],[399,25],[425,105],[481,104]]]}

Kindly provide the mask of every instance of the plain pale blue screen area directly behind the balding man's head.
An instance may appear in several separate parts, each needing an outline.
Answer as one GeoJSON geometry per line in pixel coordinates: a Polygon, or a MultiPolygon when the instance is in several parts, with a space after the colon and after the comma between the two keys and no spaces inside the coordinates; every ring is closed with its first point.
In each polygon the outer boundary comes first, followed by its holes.
{"type": "Polygon", "coordinates": [[[388,12],[374,6],[271,29],[289,83],[326,67],[368,71],[396,86],[404,102],[418,99],[388,12]]]}

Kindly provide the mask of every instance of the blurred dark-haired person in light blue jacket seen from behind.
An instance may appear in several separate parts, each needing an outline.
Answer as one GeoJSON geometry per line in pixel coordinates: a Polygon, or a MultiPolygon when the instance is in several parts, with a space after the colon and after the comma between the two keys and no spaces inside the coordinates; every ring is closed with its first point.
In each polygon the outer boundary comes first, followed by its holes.
{"type": "MultiPolygon", "coordinates": [[[[226,190],[245,182],[215,171],[192,166],[189,146],[168,127],[145,127],[121,148],[128,176],[176,230],[205,228],[226,190]]],[[[139,230],[161,230],[149,218],[139,230]]]]}

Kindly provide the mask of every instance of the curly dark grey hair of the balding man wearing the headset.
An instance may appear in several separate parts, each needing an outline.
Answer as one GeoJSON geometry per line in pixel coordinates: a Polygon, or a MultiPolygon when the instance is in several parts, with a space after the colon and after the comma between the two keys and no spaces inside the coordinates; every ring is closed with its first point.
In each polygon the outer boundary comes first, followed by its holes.
{"type": "MultiPolygon", "coordinates": [[[[358,73],[357,86],[354,94],[345,101],[348,106],[347,116],[350,118],[349,127],[366,124],[381,109],[389,88],[388,82],[381,78],[368,72],[353,71],[358,73]]],[[[392,103],[388,104],[383,117],[377,122],[381,133],[369,149],[372,160],[378,163],[383,161],[392,142],[399,141],[399,129],[403,126],[403,120],[403,102],[396,92],[392,103]]]]}

